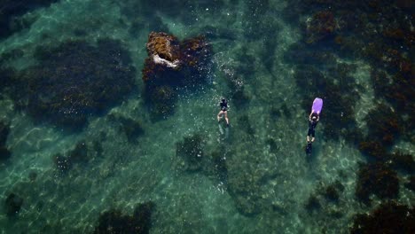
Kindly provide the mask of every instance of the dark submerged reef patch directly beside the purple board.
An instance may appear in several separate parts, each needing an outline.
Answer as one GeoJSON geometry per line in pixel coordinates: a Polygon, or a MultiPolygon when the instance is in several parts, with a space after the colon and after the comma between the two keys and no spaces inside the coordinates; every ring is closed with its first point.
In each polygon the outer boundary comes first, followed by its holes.
{"type": "Polygon", "coordinates": [[[354,78],[349,76],[353,69],[337,64],[330,70],[330,76],[327,76],[315,66],[298,66],[294,79],[304,91],[301,105],[307,113],[310,100],[315,97],[325,98],[325,109],[321,114],[321,120],[324,118],[325,122],[323,135],[332,140],[343,136],[354,144],[359,142],[362,134],[357,129],[354,118],[354,105],[360,95],[356,91],[354,78]]]}

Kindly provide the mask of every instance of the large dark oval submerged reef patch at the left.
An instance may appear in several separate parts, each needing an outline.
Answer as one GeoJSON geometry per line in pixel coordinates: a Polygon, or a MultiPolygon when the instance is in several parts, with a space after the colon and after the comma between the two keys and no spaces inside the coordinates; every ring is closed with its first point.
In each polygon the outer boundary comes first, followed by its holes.
{"type": "Polygon", "coordinates": [[[35,58],[39,65],[20,74],[19,81],[27,83],[27,88],[15,90],[19,95],[12,98],[35,120],[59,127],[82,127],[90,116],[125,98],[134,86],[129,52],[117,41],[38,47],[35,58]]]}

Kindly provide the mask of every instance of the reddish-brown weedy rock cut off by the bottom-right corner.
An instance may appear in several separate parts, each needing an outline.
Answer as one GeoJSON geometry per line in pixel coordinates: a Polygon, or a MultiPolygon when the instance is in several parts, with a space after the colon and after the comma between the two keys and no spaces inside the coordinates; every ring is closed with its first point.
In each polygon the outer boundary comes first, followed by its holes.
{"type": "Polygon", "coordinates": [[[415,208],[395,202],[381,204],[372,214],[356,214],[351,233],[415,233],[415,208]]]}

